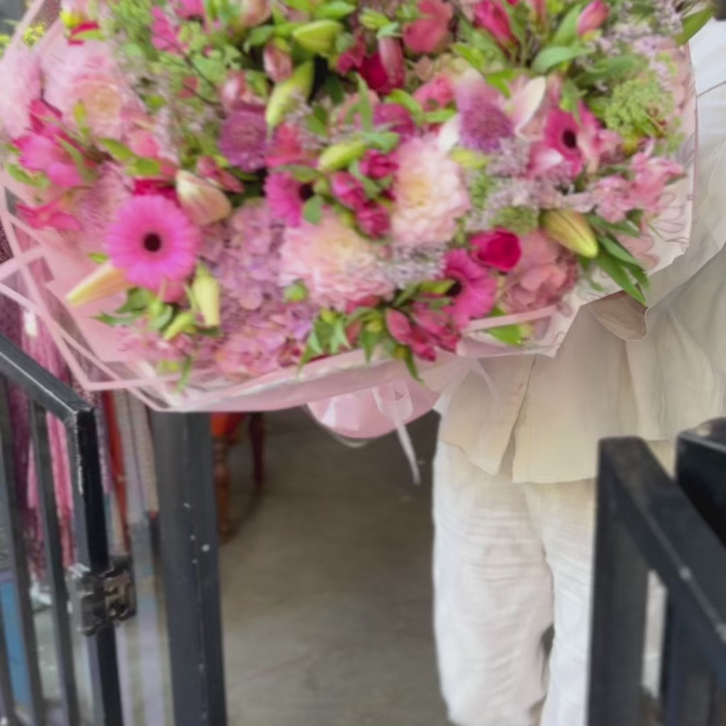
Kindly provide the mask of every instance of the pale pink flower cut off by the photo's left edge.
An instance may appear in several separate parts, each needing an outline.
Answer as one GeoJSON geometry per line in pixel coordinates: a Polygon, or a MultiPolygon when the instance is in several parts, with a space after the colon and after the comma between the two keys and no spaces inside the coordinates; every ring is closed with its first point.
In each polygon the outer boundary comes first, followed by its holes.
{"type": "Polygon", "coordinates": [[[30,128],[30,105],[41,97],[41,63],[25,44],[14,44],[0,62],[0,129],[15,139],[30,128]]]}

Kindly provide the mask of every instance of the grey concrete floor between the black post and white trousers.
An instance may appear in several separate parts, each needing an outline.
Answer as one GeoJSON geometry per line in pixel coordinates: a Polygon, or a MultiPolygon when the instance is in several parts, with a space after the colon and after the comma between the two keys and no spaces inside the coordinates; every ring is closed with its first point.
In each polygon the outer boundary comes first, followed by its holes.
{"type": "Polygon", "coordinates": [[[250,511],[232,452],[237,533],[221,550],[230,726],[444,726],[431,634],[436,420],[351,449],[304,412],[267,417],[267,481],[250,511]]]}

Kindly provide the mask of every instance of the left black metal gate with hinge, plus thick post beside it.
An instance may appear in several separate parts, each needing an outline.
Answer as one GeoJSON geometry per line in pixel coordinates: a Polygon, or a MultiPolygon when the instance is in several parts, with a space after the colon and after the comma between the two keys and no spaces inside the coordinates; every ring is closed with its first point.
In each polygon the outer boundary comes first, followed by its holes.
{"type": "MultiPolygon", "coordinates": [[[[166,603],[173,723],[224,726],[218,540],[208,417],[155,415],[153,424],[160,504],[157,551],[166,603]]],[[[0,722],[7,726],[81,726],[90,718],[92,726],[123,726],[115,623],[134,615],[133,563],[130,558],[110,556],[95,412],[1,336],[0,544],[7,550],[9,573],[9,597],[0,598],[0,722]],[[9,406],[12,387],[25,392],[30,407],[60,704],[49,704],[41,682],[28,557],[16,501],[9,406]],[[60,547],[48,415],[65,428],[72,470],[76,563],[68,570],[60,547]],[[15,623],[10,629],[9,616],[15,623]],[[19,663],[9,658],[8,633],[17,635],[19,663]],[[79,664],[81,659],[86,662],[79,664]],[[80,666],[88,674],[91,696],[91,715],[85,720],[76,677],[80,666]]]]}

